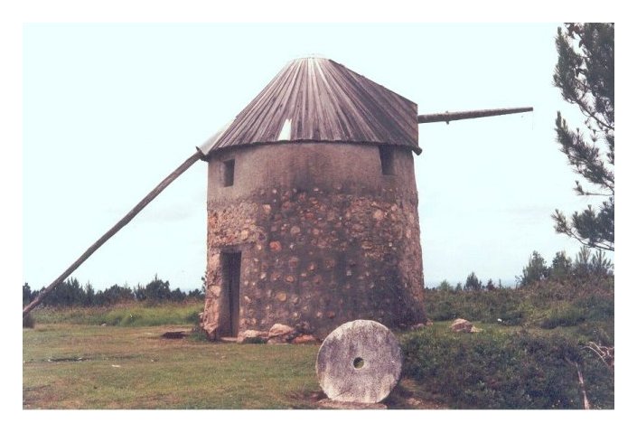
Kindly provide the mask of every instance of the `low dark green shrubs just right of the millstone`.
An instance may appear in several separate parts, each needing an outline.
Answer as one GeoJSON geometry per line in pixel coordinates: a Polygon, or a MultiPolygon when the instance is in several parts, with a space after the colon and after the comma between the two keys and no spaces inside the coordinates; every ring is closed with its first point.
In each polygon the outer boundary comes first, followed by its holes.
{"type": "Polygon", "coordinates": [[[403,374],[456,409],[581,409],[577,362],[594,408],[614,407],[613,372],[562,336],[485,331],[454,334],[438,326],[405,334],[403,374]]]}

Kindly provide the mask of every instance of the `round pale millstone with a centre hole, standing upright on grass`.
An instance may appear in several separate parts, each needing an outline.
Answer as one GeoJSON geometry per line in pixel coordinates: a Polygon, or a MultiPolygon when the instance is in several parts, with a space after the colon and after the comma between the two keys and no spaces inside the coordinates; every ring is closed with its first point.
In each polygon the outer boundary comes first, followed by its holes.
{"type": "Polygon", "coordinates": [[[373,320],[334,329],[316,356],[316,374],[328,398],[377,403],[398,383],[402,356],[394,334],[373,320]]]}

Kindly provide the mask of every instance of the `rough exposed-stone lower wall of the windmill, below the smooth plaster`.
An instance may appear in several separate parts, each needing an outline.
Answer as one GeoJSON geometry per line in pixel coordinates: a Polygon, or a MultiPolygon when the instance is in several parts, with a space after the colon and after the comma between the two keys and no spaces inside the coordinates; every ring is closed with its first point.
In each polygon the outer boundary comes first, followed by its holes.
{"type": "Polygon", "coordinates": [[[354,319],[393,328],[424,320],[415,187],[307,184],[320,186],[209,202],[202,324],[212,339],[228,302],[221,253],[232,251],[242,254],[239,332],[282,323],[324,338],[354,319]]]}

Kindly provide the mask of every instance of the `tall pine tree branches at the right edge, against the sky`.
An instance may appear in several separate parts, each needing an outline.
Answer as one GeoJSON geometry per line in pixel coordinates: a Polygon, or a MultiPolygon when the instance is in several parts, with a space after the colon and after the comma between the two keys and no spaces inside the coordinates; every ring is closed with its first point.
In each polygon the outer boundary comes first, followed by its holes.
{"type": "Polygon", "coordinates": [[[565,24],[557,29],[557,65],[553,83],[562,97],[585,116],[588,134],[572,130],[557,112],[557,142],[568,164],[584,177],[579,195],[602,196],[570,218],[552,215],[558,233],[595,249],[614,250],[614,24],[565,24]]]}

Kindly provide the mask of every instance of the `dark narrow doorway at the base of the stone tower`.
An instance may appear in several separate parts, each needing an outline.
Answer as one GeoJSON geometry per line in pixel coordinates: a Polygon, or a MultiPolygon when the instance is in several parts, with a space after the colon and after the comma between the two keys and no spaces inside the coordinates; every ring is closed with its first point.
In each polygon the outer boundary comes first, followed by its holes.
{"type": "Polygon", "coordinates": [[[239,334],[239,282],[241,279],[241,253],[226,252],[221,255],[223,267],[224,312],[220,315],[221,336],[236,337],[239,334]]]}

